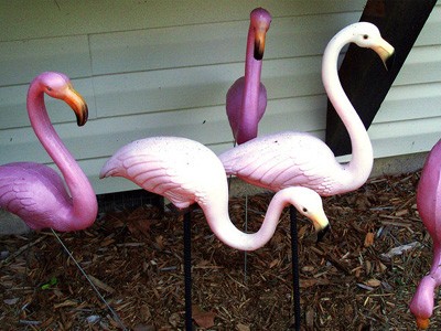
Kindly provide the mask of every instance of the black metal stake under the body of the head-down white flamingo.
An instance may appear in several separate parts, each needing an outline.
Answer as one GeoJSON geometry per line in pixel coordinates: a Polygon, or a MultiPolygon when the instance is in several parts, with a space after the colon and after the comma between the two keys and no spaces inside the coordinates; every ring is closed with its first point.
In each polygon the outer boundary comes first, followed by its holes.
{"type": "Polygon", "coordinates": [[[192,212],[184,214],[184,279],[185,279],[185,330],[193,330],[192,318],[192,212]]]}

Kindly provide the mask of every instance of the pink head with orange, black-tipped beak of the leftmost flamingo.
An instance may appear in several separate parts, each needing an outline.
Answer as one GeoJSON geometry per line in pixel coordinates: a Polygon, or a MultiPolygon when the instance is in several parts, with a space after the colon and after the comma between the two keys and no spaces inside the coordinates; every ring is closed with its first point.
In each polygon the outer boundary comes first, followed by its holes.
{"type": "Polygon", "coordinates": [[[46,72],[39,75],[35,81],[40,83],[41,88],[49,96],[64,100],[76,115],[78,126],[84,126],[88,117],[87,104],[82,95],[76,92],[71,83],[71,79],[55,72],[46,72]]]}

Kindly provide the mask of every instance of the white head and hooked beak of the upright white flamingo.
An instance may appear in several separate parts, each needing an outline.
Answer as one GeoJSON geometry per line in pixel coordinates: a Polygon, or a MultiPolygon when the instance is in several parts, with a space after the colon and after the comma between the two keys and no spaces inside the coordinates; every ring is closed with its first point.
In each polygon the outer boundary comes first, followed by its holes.
{"type": "Polygon", "coordinates": [[[377,26],[368,22],[358,22],[351,24],[346,29],[352,29],[352,42],[359,47],[375,51],[381,58],[386,70],[391,67],[395,58],[395,49],[381,38],[377,26]]]}

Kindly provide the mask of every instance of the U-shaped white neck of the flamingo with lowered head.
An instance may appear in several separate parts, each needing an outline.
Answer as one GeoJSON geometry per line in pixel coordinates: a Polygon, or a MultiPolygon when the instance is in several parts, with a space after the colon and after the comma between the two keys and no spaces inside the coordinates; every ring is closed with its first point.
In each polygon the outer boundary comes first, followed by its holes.
{"type": "Polygon", "coordinates": [[[275,194],[268,205],[260,229],[247,234],[239,231],[230,221],[228,214],[228,196],[216,196],[217,203],[200,203],[213,233],[226,245],[240,250],[255,250],[267,244],[275,234],[280,215],[289,203],[293,203],[295,188],[288,188],[275,194]],[[219,203],[220,200],[223,203],[219,203]]]}

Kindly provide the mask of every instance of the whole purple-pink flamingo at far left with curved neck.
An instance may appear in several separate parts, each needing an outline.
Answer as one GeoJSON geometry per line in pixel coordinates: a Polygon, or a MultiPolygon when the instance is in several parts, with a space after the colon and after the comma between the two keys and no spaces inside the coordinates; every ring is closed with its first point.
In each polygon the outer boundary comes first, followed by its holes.
{"type": "Polygon", "coordinates": [[[94,190],[75,159],[54,130],[45,105],[44,93],[64,100],[75,111],[77,125],[87,121],[87,105],[61,73],[42,73],[28,92],[28,114],[36,137],[64,175],[32,162],[0,166],[0,207],[20,216],[29,227],[77,231],[90,226],[98,205],[94,190]]]}

